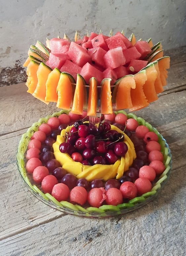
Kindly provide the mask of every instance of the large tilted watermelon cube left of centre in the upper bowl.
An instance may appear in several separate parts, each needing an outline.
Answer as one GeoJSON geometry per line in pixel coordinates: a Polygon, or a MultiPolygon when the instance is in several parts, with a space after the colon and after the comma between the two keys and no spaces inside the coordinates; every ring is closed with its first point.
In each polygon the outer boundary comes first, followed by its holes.
{"type": "Polygon", "coordinates": [[[83,67],[85,63],[91,61],[91,57],[87,53],[87,51],[75,42],[70,43],[68,56],[75,64],[77,64],[80,67],[83,67]]]}

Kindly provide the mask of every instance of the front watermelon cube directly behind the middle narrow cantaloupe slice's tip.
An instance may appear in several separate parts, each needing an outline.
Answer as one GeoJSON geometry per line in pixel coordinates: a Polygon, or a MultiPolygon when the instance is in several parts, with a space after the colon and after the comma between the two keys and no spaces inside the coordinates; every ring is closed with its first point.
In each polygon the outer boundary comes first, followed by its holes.
{"type": "Polygon", "coordinates": [[[87,84],[89,84],[89,79],[91,77],[95,77],[97,79],[97,83],[100,85],[101,81],[103,80],[103,73],[99,71],[98,69],[94,68],[90,63],[86,63],[81,72],[80,75],[84,77],[87,84]]]}

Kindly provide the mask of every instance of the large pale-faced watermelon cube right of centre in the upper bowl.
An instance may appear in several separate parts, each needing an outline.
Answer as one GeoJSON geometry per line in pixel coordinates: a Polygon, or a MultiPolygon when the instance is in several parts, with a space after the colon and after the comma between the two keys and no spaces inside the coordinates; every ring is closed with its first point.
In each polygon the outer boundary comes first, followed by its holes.
{"type": "Polygon", "coordinates": [[[107,51],[103,56],[106,68],[118,68],[125,65],[125,57],[123,55],[122,47],[117,47],[107,51]]]}

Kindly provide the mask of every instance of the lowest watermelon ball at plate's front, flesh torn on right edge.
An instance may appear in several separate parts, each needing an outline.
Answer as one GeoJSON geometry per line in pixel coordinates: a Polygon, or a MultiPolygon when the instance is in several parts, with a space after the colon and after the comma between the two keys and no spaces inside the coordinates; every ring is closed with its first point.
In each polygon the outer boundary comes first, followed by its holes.
{"type": "Polygon", "coordinates": [[[104,188],[93,188],[89,191],[87,201],[92,207],[99,207],[106,199],[104,188]]]}

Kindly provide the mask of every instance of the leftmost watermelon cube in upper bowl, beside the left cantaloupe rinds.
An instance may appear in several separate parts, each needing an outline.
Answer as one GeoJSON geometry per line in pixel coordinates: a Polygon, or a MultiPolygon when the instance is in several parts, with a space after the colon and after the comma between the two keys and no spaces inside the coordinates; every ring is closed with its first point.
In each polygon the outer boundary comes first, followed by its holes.
{"type": "Polygon", "coordinates": [[[65,61],[69,58],[66,54],[59,53],[59,54],[54,54],[50,53],[49,59],[46,62],[46,65],[49,66],[50,68],[58,68],[60,69],[62,65],[65,63],[65,61]]]}

